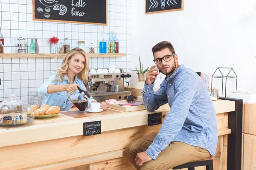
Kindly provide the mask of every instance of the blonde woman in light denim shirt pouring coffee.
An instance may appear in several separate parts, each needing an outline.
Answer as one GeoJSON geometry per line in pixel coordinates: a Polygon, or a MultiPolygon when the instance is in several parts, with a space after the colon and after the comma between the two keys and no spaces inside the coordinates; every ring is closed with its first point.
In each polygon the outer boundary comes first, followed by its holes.
{"type": "MultiPolygon", "coordinates": [[[[86,90],[84,83],[88,81],[89,59],[81,48],[70,50],[62,61],[61,68],[52,73],[49,79],[39,87],[38,92],[47,94],[43,104],[59,106],[61,111],[68,111],[73,103],[68,98],[68,92],[78,91],[76,86],[86,90]]],[[[89,99],[88,107],[91,102],[89,99]]],[[[101,102],[101,109],[106,110],[107,105],[101,102]]]]}

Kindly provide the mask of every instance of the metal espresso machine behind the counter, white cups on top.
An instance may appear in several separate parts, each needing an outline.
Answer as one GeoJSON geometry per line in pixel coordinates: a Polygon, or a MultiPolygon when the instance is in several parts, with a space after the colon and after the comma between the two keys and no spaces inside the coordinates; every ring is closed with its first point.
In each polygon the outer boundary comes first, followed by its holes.
{"type": "Polygon", "coordinates": [[[89,80],[84,85],[86,90],[96,99],[103,102],[107,99],[125,100],[131,95],[127,91],[124,83],[131,77],[130,73],[125,73],[122,68],[120,73],[89,74],[89,80]]]}

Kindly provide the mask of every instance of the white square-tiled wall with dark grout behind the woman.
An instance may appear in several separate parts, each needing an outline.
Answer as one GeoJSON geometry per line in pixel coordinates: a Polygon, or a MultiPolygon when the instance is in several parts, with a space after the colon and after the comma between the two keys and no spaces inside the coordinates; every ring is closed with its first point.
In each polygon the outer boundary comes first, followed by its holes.
{"type": "MultiPolygon", "coordinates": [[[[0,10],[5,53],[17,53],[19,35],[26,38],[28,45],[30,38],[38,38],[39,53],[50,52],[48,39],[53,36],[59,42],[67,37],[71,48],[85,40],[87,52],[93,42],[98,53],[101,32],[105,31],[108,39],[109,32],[116,31],[119,53],[126,53],[127,57],[89,58],[90,68],[108,68],[110,64],[128,72],[131,68],[131,0],[108,0],[108,26],[34,21],[32,0],[0,0],[0,10]]],[[[36,91],[61,62],[62,58],[0,58],[0,100],[15,93],[28,102],[29,91],[36,91]]]]}

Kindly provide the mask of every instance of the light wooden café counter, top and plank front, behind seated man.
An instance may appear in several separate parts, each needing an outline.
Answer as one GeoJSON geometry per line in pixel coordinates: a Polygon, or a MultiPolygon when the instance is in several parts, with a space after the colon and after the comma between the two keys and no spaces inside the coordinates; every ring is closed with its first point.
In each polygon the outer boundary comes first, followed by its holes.
{"type": "MultiPolygon", "coordinates": [[[[227,165],[228,112],[235,111],[235,102],[218,100],[214,105],[219,136],[214,160],[217,168],[227,165]]],[[[50,119],[35,119],[32,126],[1,127],[0,170],[135,170],[125,156],[125,147],[160,130],[161,125],[147,127],[148,113],[162,112],[164,120],[169,109],[168,105],[154,112],[108,108],[100,113],[81,113],[71,109],[50,119]],[[83,137],[83,122],[98,120],[102,133],[83,137]]]]}

